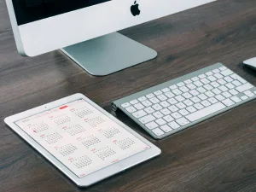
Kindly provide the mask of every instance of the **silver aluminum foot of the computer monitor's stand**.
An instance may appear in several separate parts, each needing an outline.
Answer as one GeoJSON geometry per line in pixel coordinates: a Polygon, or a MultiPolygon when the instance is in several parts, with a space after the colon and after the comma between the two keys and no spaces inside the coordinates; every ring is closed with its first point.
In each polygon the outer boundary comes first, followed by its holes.
{"type": "Polygon", "coordinates": [[[154,49],[113,32],[61,49],[88,73],[104,76],[157,56],[154,49]]]}

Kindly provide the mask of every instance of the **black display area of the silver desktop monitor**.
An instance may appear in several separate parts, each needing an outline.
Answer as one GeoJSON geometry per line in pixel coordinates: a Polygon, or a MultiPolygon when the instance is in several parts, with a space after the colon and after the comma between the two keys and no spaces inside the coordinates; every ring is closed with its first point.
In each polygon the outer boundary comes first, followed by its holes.
{"type": "Polygon", "coordinates": [[[111,0],[13,0],[18,25],[61,15],[111,0]]]}

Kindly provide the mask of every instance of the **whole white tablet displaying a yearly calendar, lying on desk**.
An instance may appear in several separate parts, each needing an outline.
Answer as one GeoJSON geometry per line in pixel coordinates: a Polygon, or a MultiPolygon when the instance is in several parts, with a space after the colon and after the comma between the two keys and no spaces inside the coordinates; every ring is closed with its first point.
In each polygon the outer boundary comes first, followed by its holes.
{"type": "Polygon", "coordinates": [[[82,94],[4,119],[80,187],[160,154],[146,139],[82,94]]]}

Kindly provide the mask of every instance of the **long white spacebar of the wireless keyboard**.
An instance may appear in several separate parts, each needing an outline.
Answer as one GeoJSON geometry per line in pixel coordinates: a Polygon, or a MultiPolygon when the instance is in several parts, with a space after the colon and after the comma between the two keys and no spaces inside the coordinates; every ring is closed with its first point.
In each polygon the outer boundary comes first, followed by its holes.
{"type": "Polygon", "coordinates": [[[219,110],[222,110],[226,108],[226,106],[224,106],[224,104],[222,104],[221,102],[215,103],[212,106],[209,106],[207,108],[203,108],[200,111],[197,111],[195,113],[190,113],[189,115],[186,116],[187,119],[189,119],[191,122],[204,118],[206,116],[208,116],[209,114],[212,113],[216,113],[219,110]]]}

